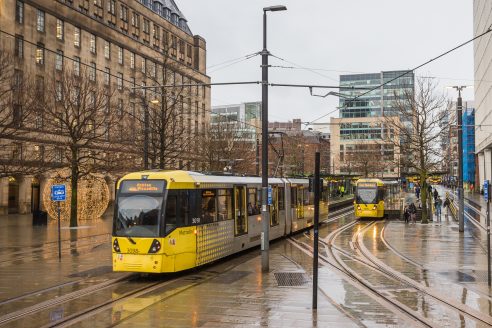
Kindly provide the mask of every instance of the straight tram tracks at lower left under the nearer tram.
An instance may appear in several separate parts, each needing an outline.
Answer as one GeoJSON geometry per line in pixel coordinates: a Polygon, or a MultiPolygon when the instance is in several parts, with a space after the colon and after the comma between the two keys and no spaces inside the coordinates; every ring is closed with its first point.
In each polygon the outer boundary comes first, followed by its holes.
{"type": "MultiPolygon", "coordinates": [[[[322,224],[327,224],[332,221],[338,220],[340,217],[346,216],[351,212],[351,206],[341,208],[330,213],[330,217],[322,221],[322,224]]],[[[248,254],[254,254],[255,249],[248,251],[245,254],[240,255],[238,258],[248,257],[248,254]]],[[[235,258],[227,259],[227,262],[236,262],[235,258]]],[[[237,261],[235,265],[230,266],[232,269],[236,265],[242,263],[243,260],[237,261]]],[[[116,304],[124,303],[137,297],[143,297],[149,293],[156,293],[160,289],[166,289],[170,286],[177,284],[185,285],[186,288],[197,286],[200,283],[208,281],[217,277],[217,274],[210,274],[209,268],[206,266],[203,269],[199,269],[199,273],[191,274],[186,273],[183,275],[171,275],[165,281],[144,283],[142,286],[134,286],[131,288],[124,287],[136,276],[135,274],[127,274],[122,277],[108,279],[101,283],[93,284],[91,286],[81,288],[76,291],[65,293],[66,290],[79,288],[79,284],[84,284],[91,279],[80,279],[63,283],[57,286],[48,287],[42,290],[26,293],[14,298],[6,299],[0,302],[0,313],[7,313],[0,316],[0,327],[16,325],[22,327],[54,327],[54,326],[68,326],[76,324],[78,322],[87,320],[88,318],[97,315],[98,313],[111,309],[116,304]],[[191,281],[191,283],[190,283],[191,281]],[[123,288],[122,288],[123,287],[123,288]],[[111,290],[126,289],[125,293],[120,295],[112,295],[111,290]],[[47,298],[43,295],[49,295],[47,298]],[[91,303],[90,299],[97,299],[98,302],[91,303]],[[39,302],[41,300],[41,302],[39,302]],[[34,304],[37,302],[36,304],[34,304]],[[80,305],[85,303],[85,305],[80,305]],[[75,312],[63,312],[62,318],[55,321],[49,321],[52,316],[51,313],[60,309],[78,309],[75,312]]],[[[93,279],[94,277],[92,277],[93,279]]],[[[100,278],[97,278],[100,279],[100,278]]],[[[87,282],[89,284],[90,282],[87,282]]],[[[183,287],[184,288],[184,287],[183,287]]],[[[183,291],[183,288],[170,288],[171,292],[166,292],[167,297],[176,295],[176,293],[183,291]]]]}

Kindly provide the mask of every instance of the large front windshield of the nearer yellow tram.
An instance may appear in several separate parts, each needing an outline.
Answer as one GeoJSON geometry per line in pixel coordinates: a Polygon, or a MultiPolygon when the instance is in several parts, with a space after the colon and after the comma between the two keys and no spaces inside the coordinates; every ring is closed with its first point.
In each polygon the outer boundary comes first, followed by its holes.
{"type": "Polygon", "coordinates": [[[159,210],[163,197],[147,195],[121,196],[115,220],[116,236],[158,237],[159,210]]]}

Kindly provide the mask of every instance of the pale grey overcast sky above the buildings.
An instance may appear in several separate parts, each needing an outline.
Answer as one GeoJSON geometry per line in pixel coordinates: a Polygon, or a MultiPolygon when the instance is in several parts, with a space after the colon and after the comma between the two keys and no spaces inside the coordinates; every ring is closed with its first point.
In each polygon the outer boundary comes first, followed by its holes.
{"type": "MultiPolygon", "coordinates": [[[[338,85],[340,74],[414,68],[473,37],[472,0],[175,0],[194,34],[207,41],[207,73],[212,82],[261,80],[261,56],[229,67],[215,66],[262,49],[262,8],[268,14],[271,83],[338,85]]],[[[449,85],[473,84],[469,44],[416,71],[449,85]]],[[[273,87],[269,120],[310,122],[336,109],[338,98],[311,97],[307,89],[273,87]]],[[[323,93],[323,90],[317,92],[323,93]]],[[[464,99],[473,99],[473,90],[464,99]]],[[[212,105],[261,101],[261,87],[215,86],[212,105]]],[[[337,117],[338,112],[332,116],[337,117]]],[[[325,118],[323,121],[329,121],[325,118]]]]}

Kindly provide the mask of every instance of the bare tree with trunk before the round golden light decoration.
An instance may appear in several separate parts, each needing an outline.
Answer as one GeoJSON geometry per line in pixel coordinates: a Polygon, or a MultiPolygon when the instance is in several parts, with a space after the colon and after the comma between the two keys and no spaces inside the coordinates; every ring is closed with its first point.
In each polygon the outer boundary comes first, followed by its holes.
{"type": "Polygon", "coordinates": [[[123,108],[116,102],[115,90],[96,82],[95,71],[54,72],[46,83],[44,101],[47,138],[55,145],[59,167],[67,168],[70,180],[70,226],[77,226],[77,188],[79,180],[91,173],[116,170],[120,161],[111,154],[111,136],[121,131],[123,108]]]}

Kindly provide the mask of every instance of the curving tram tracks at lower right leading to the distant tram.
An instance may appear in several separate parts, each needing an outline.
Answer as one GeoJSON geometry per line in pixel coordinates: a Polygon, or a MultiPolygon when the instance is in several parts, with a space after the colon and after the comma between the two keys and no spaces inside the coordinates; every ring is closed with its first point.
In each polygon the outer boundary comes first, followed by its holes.
{"type": "MultiPolygon", "coordinates": [[[[375,221],[374,221],[375,222],[375,221]]],[[[447,300],[442,295],[437,294],[435,291],[427,288],[418,282],[411,280],[408,277],[402,277],[402,274],[399,272],[394,272],[387,267],[382,266],[377,261],[373,261],[373,258],[369,256],[368,250],[364,247],[362,243],[362,238],[364,233],[374,224],[374,222],[369,222],[365,224],[362,229],[359,229],[355,233],[352,234],[349,245],[344,245],[348,247],[339,247],[335,245],[337,238],[344,232],[348,231],[351,228],[354,228],[357,224],[362,224],[361,222],[351,222],[348,223],[332,233],[330,233],[326,238],[321,240],[321,244],[324,246],[326,253],[328,256],[321,255],[320,260],[323,263],[330,265],[332,268],[335,268],[337,272],[343,274],[345,277],[349,278],[351,281],[355,282],[358,286],[366,289],[374,296],[376,296],[379,300],[383,301],[390,309],[398,313],[404,314],[408,319],[418,322],[419,324],[426,327],[435,327],[436,322],[429,318],[424,318],[420,313],[413,310],[411,307],[397,300],[396,296],[391,296],[391,290],[395,289],[395,286],[400,286],[401,289],[410,290],[416,295],[421,295],[429,297],[433,299],[435,302],[438,302],[441,305],[446,306],[448,309],[452,311],[457,311],[461,316],[466,316],[469,320],[474,320],[476,322],[475,326],[490,326],[492,325],[492,319],[489,316],[485,316],[478,311],[469,308],[466,305],[459,304],[454,301],[447,300]],[[357,270],[351,268],[349,263],[356,263],[357,265],[363,266],[366,269],[371,270],[372,272],[376,272],[384,279],[391,279],[393,283],[396,282],[396,285],[392,288],[380,290],[381,286],[375,286],[371,284],[371,282],[364,278],[364,275],[367,276],[367,271],[365,270],[364,274],[359,273],[357,270]]],[[[296,241],[290,239],[291,243],[296,244],[296,241]]],[[[306,244],[297,244],[298,247],[311,252],[312,256],[312,248],[309,249],[306,244]]],[[[388,283],[388,282],[387,282],[388,283]]],[[[441,323],[437,323],[441,324],[441,323]]]]}

